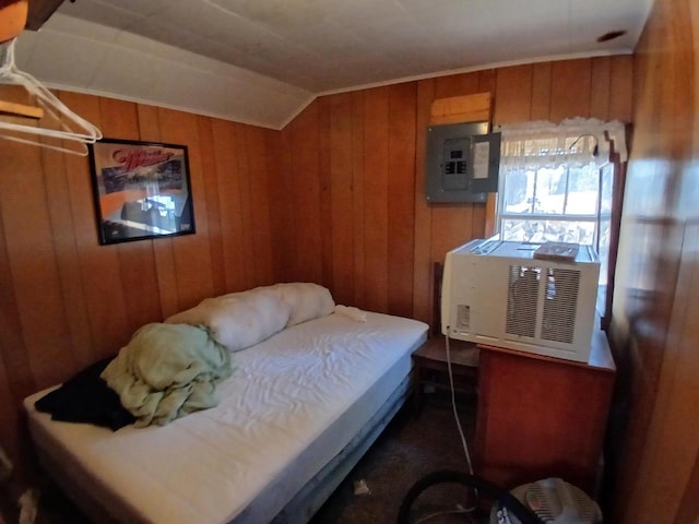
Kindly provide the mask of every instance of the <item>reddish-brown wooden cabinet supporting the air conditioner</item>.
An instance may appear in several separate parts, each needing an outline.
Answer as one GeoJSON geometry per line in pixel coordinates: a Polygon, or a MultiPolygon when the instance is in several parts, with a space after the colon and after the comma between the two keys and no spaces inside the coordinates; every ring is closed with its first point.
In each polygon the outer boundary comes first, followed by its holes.
{"type": "Polygon", "coordinates": [[[594,495],[616,372],[604,333],[589,364],[479,349],[477,473],[508,489],[561,477],[594,495]]]}

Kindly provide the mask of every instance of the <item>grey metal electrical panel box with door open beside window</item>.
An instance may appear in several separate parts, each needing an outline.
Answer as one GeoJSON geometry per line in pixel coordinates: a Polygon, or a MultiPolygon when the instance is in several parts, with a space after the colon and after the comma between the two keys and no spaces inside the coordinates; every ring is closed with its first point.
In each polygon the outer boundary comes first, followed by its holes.
{"type": "Polygon", "coordinates": [[[428,202],[485,202],[498,190],[500,133],[488,128],[488,122],[465,122],[427,129],[428,202]]]}

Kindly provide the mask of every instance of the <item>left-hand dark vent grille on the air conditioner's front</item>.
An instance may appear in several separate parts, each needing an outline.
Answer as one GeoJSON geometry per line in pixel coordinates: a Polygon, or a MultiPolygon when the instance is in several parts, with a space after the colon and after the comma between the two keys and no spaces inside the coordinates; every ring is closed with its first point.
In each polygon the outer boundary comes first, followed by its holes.
{"type": "Polygon", "coordinates": [[[505,332],[535,336],[541,269],[510,265],[505,332]]]}

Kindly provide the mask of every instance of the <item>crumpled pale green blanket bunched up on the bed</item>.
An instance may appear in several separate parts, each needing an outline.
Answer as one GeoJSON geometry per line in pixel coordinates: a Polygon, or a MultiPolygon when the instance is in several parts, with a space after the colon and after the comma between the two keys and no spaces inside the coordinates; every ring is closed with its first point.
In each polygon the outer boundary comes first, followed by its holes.
{"type": "Polygon", "coordinates": [[[102,378],[137,417],[134,426],[165,426],[218,404],[216,384],[233,373],[230,354],[201,326],[146,324],[102,378]]]}

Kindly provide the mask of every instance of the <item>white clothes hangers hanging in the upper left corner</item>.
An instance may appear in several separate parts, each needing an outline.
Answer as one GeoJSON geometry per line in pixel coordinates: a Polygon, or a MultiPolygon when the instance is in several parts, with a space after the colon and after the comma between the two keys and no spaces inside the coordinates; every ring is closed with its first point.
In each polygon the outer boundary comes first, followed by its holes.
{"type": "MultiPolygon", "coordinates": [[[[60,123],[62,129],[49,129],[39,126],[27,126],[9,122],[0,119],[0,139],[7,139],[24,144],[38,145],[50,150],[62,151],[75,155],[87,155],[87,145],[94,144],[102,139],[102,131],[87,120],[71,111],[60,102],[48,88],[29,73],[21,71],[14,61],[14,45],[16,37],[0,44],[0,84],[17,84],[36,100],[38,108],[43,109],[54,120],[60,123]],[[25,138],[27,136],[27,138],[25,138]],[[34,136],[34,140],[32,139],[34,136]],[[39,138],[48,138],[50,143],[39,138]],[[63,141],[63,142],[60,142],[63,141]]],[[[11,107],[11,106],[9,106],[11,107]]],[[[31,115],[26,108],[32,106],[20,106],[20,109],[4,111],[14,112],[15,116],[39,118],[31,115]]]]}

